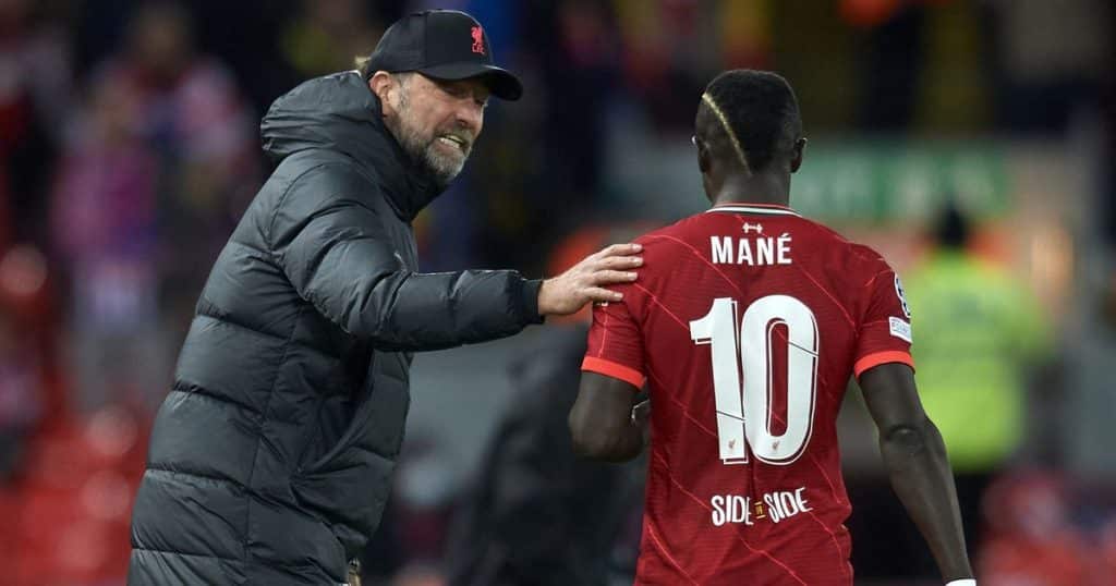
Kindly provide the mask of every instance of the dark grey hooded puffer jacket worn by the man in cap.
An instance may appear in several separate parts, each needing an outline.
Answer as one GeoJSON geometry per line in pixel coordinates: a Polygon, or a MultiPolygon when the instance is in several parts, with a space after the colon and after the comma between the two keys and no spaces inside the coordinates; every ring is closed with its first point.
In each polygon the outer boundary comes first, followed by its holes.
{"type": "Polygon", "coordinates": [[[355,71],[263,119],[278,169],[221,252],[155,420],[128,583],[337,585],[376,529],[403,441],[411,353],[538,316],[513,271],[415,272],[437,192],[355,71]]]}

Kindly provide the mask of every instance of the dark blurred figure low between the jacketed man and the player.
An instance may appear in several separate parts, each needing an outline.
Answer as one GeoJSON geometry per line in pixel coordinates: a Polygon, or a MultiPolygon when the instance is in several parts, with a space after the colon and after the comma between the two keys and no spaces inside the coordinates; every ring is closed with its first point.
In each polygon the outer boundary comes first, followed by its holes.
{"type": "Polygon", "coordinates": [[[642,484],[633,467],[574,454],[566,417],[586,335],[584,325],[552,328],[513,365],[517,398],[489,441],[446,550],[450,585],[608,584],[609,553],[642,484]]]}

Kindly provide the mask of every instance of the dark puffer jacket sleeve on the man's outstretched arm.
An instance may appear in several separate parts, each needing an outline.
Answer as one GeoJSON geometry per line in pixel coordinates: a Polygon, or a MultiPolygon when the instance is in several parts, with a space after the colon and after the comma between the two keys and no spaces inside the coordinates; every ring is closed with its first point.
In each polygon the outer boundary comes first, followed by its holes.
{"type": "Polygon", "coordinates": [[[485,342],[541,323],[540,281],[516,271],[408,270],[384,221],[363,201],[378,194],[349,173],[333,166],[297,180],[268,230],[282,271],[324,316],[398,350],[485,342]]]}

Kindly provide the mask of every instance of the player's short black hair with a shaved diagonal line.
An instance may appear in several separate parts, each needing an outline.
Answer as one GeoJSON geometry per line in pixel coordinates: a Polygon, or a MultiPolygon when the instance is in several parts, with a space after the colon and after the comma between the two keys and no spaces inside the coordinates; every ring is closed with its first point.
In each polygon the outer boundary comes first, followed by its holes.
{"type": "Polygon", "coordinates": [[[702,96],[721,118],[729,138],[751,172],[760,172],[778,153],[789,153],[802,135],[795,90],[778,74],[732,69],[716,76],[702,96]]]}

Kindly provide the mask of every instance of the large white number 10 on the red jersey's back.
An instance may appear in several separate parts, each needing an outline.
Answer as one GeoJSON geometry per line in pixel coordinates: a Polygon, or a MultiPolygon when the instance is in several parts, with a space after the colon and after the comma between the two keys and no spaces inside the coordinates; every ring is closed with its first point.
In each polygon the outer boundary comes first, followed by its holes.
{"type": "Polygon", "coordinates": [[[742,319],[737,316],[737,300],[720,297],[713,300],[705,317],[690,323],[694,343],[712,346],[721,460],[725,464],[747,463],[751,446],[762,462],[789,464],[802,454],[814,426],[818,321],[809,307],[787,295],[757,299],[748,306],[742,319]],[[776,336],[776,327],[780,325],[787,332],[787,426],[782,434],[775,435],[771,396],[781,388],[773,388],[771,348],[782,342],[782,336],[776,336]]]}

